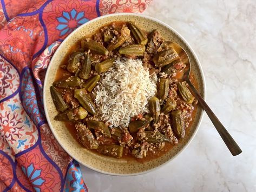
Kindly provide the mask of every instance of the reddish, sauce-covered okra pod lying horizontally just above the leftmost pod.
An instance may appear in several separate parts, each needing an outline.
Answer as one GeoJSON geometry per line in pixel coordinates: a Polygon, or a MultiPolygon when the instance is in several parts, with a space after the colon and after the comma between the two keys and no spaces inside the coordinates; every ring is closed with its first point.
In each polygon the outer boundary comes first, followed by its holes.
{"type": "Polygon", "coordinates": [[[53,83],[54,87],[58,87],[58,88],[80,87],[81,84],[82,84],[81,79],[76,76],[71,76],[71,77],[65,78],[64,80],[58,80],[53,83]]]}

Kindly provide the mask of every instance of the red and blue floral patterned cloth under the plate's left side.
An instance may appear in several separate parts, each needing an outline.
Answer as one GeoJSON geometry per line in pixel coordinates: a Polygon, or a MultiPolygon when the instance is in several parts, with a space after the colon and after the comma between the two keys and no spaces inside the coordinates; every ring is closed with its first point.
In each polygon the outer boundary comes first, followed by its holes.
{"type": "Polygon", "coordinates": [[[101,15],[143,12],[150,1],[1,0],[0,191],[88,191],[45,120],[45,71],[75,28],[101,15]]]}

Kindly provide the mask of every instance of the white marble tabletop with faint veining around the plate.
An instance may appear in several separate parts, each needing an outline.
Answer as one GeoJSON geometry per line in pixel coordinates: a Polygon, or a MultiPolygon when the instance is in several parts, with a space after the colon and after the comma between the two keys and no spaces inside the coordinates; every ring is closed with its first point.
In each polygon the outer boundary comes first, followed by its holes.
{"type": "Polygon", "coordinates": [[[207,102],[242,154],[229,153],[205,115],[188,148],[152,173],[117,177],[81,166],[89,191],[256,191],[255,10],[255,0],[154,0],[144,13],[191,44],[205,73],[207,102]]]}

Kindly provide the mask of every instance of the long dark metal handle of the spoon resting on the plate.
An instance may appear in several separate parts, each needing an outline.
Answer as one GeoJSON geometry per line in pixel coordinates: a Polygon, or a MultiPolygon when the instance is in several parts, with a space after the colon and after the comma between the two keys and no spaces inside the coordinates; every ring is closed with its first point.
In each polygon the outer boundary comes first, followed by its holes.
{"type": "Polygon", "coordinates": [[[207,113],[208,117],[212,121],[214,127],[217,129],[222,140],[225,142],[225,144],[227,145],[227,148],[232,153],[232,155],[236,156],[236,155],[239,155],[240,153],[242,153],[242,150],[240,149],[238,144],[234,141],[232,136],[228,133],[228,131],[225,129],[225,127],[221,124],[221,122],[216,117],[214,112],[209,108],[209,106],[205,102],[204,98],[202,98],[201,95],[199,94],[199,92],[195,89],[194,85],[190,81],[187,81],[187,83],[188,83],[189,87],[191,87],[192,91],[195,94],[194,96],[198,99],[198,102],[200,103],[201,107],[207,113]]]}

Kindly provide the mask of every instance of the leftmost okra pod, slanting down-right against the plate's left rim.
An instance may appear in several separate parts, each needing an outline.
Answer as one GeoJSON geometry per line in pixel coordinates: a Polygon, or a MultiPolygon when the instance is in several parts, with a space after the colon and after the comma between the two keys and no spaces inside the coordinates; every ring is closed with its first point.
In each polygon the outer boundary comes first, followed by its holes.
{"type": "Polygon", "coordinates": [[[60,92],[58,92],[57,89],[53,86],[50,87],[50,92],[51,92],[52,101],[54,102],[56,109],[61,112],[67,110],[68,104],[65,103],[60,92]]]}

